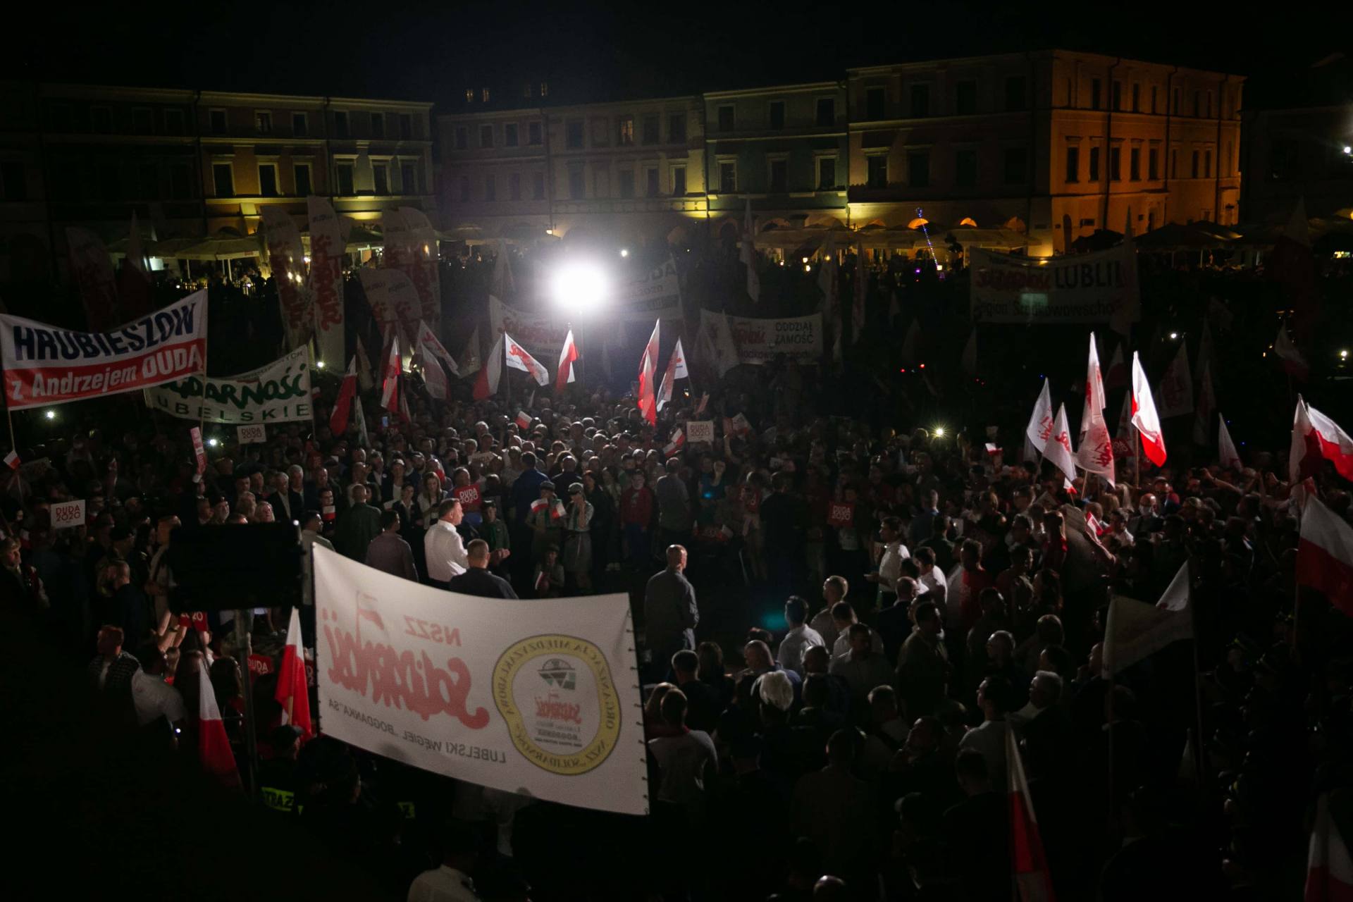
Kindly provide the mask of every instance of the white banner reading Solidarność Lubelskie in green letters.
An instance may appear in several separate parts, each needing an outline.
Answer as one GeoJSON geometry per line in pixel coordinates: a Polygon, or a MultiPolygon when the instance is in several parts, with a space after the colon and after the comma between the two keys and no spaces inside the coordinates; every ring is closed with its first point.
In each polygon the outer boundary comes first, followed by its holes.
{"type": "Polygon", "coordinates": [[[310,422],[314,418],[310,348],[298,348],[248,373],[208,379],[206,404],[202,379],[193,376],[147,388],[146,406],[180,419],[206,419],[208,423],[310,422]]]}

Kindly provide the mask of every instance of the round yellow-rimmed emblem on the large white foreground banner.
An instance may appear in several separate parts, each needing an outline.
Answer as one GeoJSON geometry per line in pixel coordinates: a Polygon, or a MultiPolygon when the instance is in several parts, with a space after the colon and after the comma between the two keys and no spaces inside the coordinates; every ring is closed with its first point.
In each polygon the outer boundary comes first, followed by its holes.
{"type": "Polygon", "coordinates": [[[492,687],[513,745],[551,774],[587,774],[620,740],[620,694],[610,664],[587,640],[524,638],[498,659],[492,687]]]}

